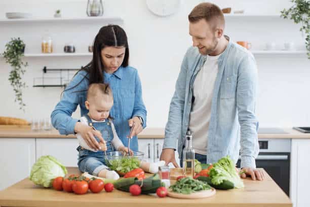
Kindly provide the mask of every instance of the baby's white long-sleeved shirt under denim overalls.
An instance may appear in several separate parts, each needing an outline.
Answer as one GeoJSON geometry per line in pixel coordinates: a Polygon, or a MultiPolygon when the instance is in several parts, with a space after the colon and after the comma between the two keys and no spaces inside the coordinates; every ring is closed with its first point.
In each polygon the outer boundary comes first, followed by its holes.
{"type": "MultiPolygon", "coordinates": [[[[81,117],[80,121],[81,121],[81,123],[88,125],[88,121],[87,121],[86,117],[81,117]]],[[[114,127],[113,122],[111,120],[109,120],[109,121],[111,123],[112,132],[113,132],[113,136],[114,136],[111,143],[112,143],[113,147],[115,148],[115,150],[118,150],[119,147],[122,147],[124,145],[123,145],[122,141],[120,140],[117,132],[115,131],[115,127],[114,127]]],[[[100,122],[100,121],[96,121],[96,120],[92,119],[92,122],[100,122]]],[[[85,142],[85,140],[83,139],[83,137],[80,133],[76,134],[76,137],[78,138],[78,141],[79,141],[79,144],[81,147],[83,147],[84,149],[93,151],[93,152],[97,152],[87,145],[87,143],[85,142]]]]}

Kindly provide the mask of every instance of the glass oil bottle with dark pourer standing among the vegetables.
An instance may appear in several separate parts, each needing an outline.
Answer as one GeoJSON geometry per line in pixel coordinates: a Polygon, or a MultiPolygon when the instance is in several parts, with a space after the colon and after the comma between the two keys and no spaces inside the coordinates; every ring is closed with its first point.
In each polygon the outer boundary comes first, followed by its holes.
{"type": "Polygon", "coordinates": [[[183,175],[193,178],[195,172],[195,150],[191,146],[191,131],[188,128],[185,136],[185,148],[183,149],[183,175]]]}

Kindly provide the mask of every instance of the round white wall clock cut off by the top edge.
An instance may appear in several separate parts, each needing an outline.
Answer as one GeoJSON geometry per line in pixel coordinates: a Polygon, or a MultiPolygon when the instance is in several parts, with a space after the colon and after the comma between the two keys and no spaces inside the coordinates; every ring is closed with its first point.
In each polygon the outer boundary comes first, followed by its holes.
{"type": "Polygon", "coordinates": [[[146,0],[146,5],[153,14],[166,17],[179,10],[181,0],[146,0]]]}

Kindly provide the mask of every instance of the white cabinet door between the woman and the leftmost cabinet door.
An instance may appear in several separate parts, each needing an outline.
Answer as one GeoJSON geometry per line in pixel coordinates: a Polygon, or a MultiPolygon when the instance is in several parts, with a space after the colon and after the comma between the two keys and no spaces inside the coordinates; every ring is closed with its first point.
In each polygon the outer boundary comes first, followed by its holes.
{"type": "Polygon", "coordinates": [[[76,139],[36,139],[36,159],[43,155],[52,155],[64,166],[78,166],[79,146],[76,139]]]}

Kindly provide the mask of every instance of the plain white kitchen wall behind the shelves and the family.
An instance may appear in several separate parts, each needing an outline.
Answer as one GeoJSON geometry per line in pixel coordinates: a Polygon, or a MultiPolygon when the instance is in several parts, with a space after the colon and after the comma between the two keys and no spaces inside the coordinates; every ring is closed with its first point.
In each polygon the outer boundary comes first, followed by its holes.
{"type": "MultiPolygon", "coordinates": [[[[142,81],[143,98],[148,111],[148,127],[164,127],[175,81],[186,49],[191,45],[187,15],[202,1],[184,1],[179,12],[161,18],[151,14],[144,0],[106,0],[104,16],[121,16],[130,46],[130,64],[136,67],[142,81]]],[[[275,14],[289,8],[290,1],[212,1],[220,7],[245,9],[249,14],[275,14]]],[[[63,17],[86,16],[87,1],[83,0],[11,0],[0,2],[0,18],[6,12],[30,12],[35,17],[52,17],[61,9],[63,17]]],[[[11,37],[21,37],[26,52],[40,52],[41,39],[49,32],[54,40],[55,52],[62,52],[66,42],[72,42],[78,52],[86,52],[100,25],[76,22],[59,24],[0,24],[0,52],[11,37]]],[[[295,42],[304,50],[299,26],[292,20],[280,18],[228,18],[226,32],[232,40],[247,40],[252,50],[262,50],[266,42],[274,41],[278,49],[287,41],[295,42]]],[[[9,84],[10,66],[0,57],[2,83],[0,116],[31,119],[49,117],[59,101],[61,88],[33,88],[33,78],[42,76],[43,66],[74,68],[85,65],[90,57],[27,57],[29,66],[24,75],[28,88],[23,97],[27,105],[23,113],[14,103],[15,94],[9,84]]],[[[305,55],[256,56],[259,70],[259,102],[257,114],[260,126],[301,126],[310,122],[310,61],[305,55]]],[[[79,113],[74,114],[79,117],[79,113]]]]}

